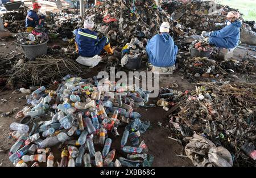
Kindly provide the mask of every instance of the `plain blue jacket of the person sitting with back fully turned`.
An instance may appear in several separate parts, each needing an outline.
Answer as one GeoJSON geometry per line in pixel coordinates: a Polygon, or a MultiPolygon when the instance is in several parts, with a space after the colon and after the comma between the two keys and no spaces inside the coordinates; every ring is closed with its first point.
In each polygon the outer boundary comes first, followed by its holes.
{"type": "Polygon", "coordinates": [[[178,47],[168,33],[155,35],[147,41],[148,61],[157,67],[174,66],[178,47]]]}

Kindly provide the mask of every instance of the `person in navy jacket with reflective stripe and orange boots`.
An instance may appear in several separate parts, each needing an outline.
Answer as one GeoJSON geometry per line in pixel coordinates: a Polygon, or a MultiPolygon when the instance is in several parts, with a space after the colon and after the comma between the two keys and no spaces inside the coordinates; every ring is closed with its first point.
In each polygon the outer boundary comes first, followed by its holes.
{"type": "Polygon", "coordinates": [[[84,28],[73,31],[76,43],[76,49],[82,57],[93,57],[100,54],[104,49],[108,54],[113,54],[108,37],[104,36],[98,39],[97,32],[93,31],[94,23],[92,20],[84,21],[84,28]]]}

